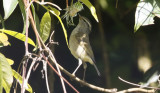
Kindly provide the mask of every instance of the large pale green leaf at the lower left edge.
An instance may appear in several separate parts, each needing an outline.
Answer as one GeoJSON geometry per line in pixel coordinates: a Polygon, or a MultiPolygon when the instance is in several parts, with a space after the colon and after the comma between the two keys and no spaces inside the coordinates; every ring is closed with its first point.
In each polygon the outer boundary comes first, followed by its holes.
{"type": "Polygon", "coordinates": [[[4,87],[6,93],[10,93],[10,88],[13,83],[12,68],[7,62],[6,57],[1,53],[0,53],[0,63],[1,63],[0,75],[2,76],[0,81],[2,82],[2,86],[4,87]]]}

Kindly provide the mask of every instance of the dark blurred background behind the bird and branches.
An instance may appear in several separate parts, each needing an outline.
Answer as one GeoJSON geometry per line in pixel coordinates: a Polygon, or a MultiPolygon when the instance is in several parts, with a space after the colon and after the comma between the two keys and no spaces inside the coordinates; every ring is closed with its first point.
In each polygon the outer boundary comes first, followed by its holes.
{"type": "MultiPolygon", "coordinates": [[[[45,1],[53,2],[62,9],[66,8],[66,0],[45,1]]],[[[70,2],[69,0],[69,4],[70,2]]],[[[136,87],[120,81],[118,76],[127,81],[139,83],[144,78],[144,73],[150,67],[158,64],[160,61],[160,19],[155,17],[154,25],[143,26],[134,33],[135,10],[138,0],[90,0],[90,2],[97,10],[99,23],[95,21],[90,10],[85,5],[79,14],[91,21],[92,32],[90,33],[90,43],[101,76],[99,77],[94,67],[87,63],[86,82],[104,88],[117,88],[118,90],[136,87]]],[[[2,5],[1,0],[0,14],[3,16],[4,10],[2,5]]],[[[35,8],[39,19],[41,19],[46,10],[40,6],[35,8]]],[[[64,13],[65,11],[62,11],[61,16],[64,13]]],[[[66,21],[63,20],[63,23],[65,24],[66,21]]],[[[74,23],[77,25],[78,16],[74,18],[74,23]]],[[[65,27],[69,37],[75,26],[68,27],[65,25],[65,27]]],[[[22,32],[23,19],[19,6],[17,6],[9,19],[5,21],[5,28],[22,32]]],[[[62,27],[58,19],[52,15],[53,30],[55,31],[53,40],[59,43],[59,45],[51,47],[55,58],[59,64],[72,73],[78,65],[78,60],[71,55],[65,42],[62,27]]],[[[35,40],[31,27],[29,34],[35,40]]],[[[12,67],[17,70],[24,56],[24,43],[10,36],[9,41],[11,46],[3,47],[0,51],[6,57],[15,61],[12,67]]],[[[32,49],[33,47],[30,46],[30,51],[32,49]]],[[[36,93],[46,93],[45,80],[42,79],[41,70],[42,64],[40,63],[38,69],[32,72],[29,80],[36,93]]],[[[83,66],[81,66],[76,76],[82,79],[83,71],[83,66]]],[[[48,75],[52,92],[63,93],[59,77],[50,69],[48,75]]],[[[88,91],[90,93],[100,93],[73,81],[65,74],[63,75],[81,93],[88,93],[88,91]]],[[[68,93],[74,93],[69,86],[66,89],[68,93]]]]}

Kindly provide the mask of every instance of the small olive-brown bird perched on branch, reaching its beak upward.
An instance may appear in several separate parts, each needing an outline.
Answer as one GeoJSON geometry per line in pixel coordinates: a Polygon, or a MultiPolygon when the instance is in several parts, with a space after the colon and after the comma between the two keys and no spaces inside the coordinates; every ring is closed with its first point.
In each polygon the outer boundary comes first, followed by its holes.
{"type": "Polygon", "coordinates": [[[69,50],[71,51],[71,54],[76,59],[78,59],[78,66],[72,74],[75,75],[76,71],[83,64],[83,80],[85,78],[85,72],[87,68],[86,62],[92,64],[95,67],[98,76],[100,76],[100,72],[95,64],[92,47],[89,42],[89,34],[91,32],[91,28],[92,25],[90,21],[86,17],[79,15],[79,23],[73,29],[69,38],[69,50]]]}

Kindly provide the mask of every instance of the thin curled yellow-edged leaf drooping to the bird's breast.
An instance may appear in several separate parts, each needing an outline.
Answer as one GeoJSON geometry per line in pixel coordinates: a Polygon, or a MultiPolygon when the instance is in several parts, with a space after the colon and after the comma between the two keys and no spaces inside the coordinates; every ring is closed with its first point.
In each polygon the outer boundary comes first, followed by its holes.
{"type": "Polygon", "coordinates": [[[52,8],[52,10],[50,10],[50,12],[51,12],[53,15],[55,15],[55,16],[58,18],[58,20],[60,21],[61,26],[62,26],[62,29],[63,29],[63,32],[64,32],[64,36],[65,36],[65,39],[66,39],[66,43],[67,43],[67,46],[68,46],[67,31],[66,31],[66,29],[65,29],[65,27],[64,27],[64,24],[63,24],[61,18],[59,17],[60,12],[59,12],[57,9],[55,9],[55,8],[52,8]]]}

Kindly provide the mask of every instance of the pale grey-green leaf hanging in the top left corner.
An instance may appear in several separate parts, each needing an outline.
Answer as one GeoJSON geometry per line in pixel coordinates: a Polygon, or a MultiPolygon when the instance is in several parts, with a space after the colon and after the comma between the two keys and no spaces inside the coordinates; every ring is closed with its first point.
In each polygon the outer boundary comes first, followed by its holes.
{"type": "Polygon", "coordinates": [[[7,19],[18,4],[18,0],[3,0],[3,8],[4,8],[4,19],[7,19]]]}

